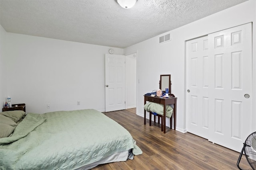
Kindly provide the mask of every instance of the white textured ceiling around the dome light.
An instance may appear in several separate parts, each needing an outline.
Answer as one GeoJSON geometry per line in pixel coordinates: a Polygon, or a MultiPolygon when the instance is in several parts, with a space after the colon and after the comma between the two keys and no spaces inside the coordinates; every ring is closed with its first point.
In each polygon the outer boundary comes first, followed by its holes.
{"type": "Polygon", "coordinates": [[[0,0],[7,32],[125,48],[246,0],[0,0]]]}

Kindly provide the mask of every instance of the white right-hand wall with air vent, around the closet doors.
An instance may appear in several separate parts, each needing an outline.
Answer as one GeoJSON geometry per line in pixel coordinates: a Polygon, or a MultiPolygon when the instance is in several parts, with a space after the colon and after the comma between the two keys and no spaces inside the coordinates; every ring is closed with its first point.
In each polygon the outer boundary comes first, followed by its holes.
{"type": "MultiPolygon", "coordinates": [[[[158,44],[159,36],[153,37],[136,45],[124,49],[124,53],[138,51],[138,115],[144,116],[144,94],[159,87],[160,74],[172,75],[172,93],[178,97],[177,101],[177,130],[186,131],[186,57],[185,41],[207,35],[216,31],[253,22],[253,45],[256,42],[256,1],[249,0],[232,8],[218,12],[201,20],[184,25],[167,33],[171,34],[171,41],[158,44]],[[166,64],[167,63],[167,64],[166,64]]],[[[162,35],[165,35],[164,33],[162,35]]],[[[253,48],[253,87],[256,85],[256,48],[253,48]]],[[[253,89],[253,103],[256,102],[256,90],[253,89]]],[[[256,108],[252,106],[252,120],[256,119],[256,108]]],[[[147,117],[149,115],[147,114],[147,117]]],[[[170,122],[166,120],[169,126],[170,122]]],[[[255,123],[252,129],[256,130],[255,123]]]]}

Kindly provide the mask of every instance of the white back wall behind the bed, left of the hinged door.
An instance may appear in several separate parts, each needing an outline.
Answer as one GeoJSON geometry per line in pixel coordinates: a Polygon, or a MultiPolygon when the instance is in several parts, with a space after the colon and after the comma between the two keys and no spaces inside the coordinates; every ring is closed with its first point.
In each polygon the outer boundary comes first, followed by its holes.
{"type": "MultiPolygon", "coordinates": [[[[105,110],[104,56],[110,47],[15,33],[6,39],[4,83],[12,104],[25,103],[26,112],[34,113],[105,110]]],[[[123,55],[123,49],[112,49],[123,55]]]]}

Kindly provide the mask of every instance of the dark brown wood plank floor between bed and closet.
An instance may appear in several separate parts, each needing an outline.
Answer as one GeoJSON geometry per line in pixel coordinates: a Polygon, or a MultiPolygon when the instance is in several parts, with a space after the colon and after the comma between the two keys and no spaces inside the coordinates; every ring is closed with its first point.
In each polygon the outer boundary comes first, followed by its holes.
{"type": "MultiPolygon", "coordinates": [[[[239,152],[212,144],[191,133],[181,133],[166,127],[161,132],[158,123],[144,125],[144,118],[128,110],[104,113],[125,127],[142,154],[134,160],[98,165],[93,170],[237,170],[239,152]]],[[[242,149],[242,148],[241,148],[242,149]]],[[[242,156],[240,168],[251,169],[242,156]]]]}

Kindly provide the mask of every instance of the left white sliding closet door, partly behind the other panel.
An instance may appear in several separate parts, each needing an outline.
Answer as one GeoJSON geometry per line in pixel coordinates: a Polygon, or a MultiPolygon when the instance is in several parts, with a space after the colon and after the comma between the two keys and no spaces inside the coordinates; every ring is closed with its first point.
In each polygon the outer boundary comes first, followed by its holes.
{"type": "Polygon", "coordinates": [[[187,131],[208,139],[208,37],[186,42],[187,131]]]}

